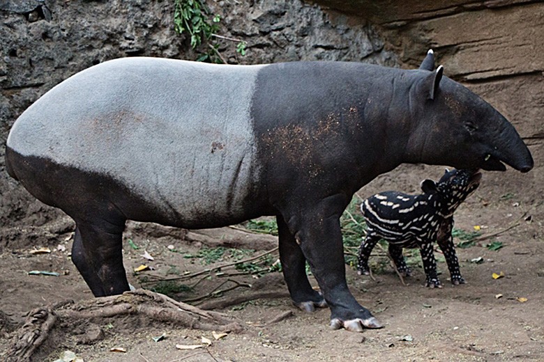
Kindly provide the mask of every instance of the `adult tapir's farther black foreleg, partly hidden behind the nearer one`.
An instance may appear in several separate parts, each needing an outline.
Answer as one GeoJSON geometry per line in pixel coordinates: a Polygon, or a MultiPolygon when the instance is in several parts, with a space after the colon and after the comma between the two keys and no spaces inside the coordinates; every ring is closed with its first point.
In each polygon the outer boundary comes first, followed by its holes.
{"type": "Polygon", "coordinates": [[[306,258],[299,244],[281,215],[278,220],[278,236],[280,241],[280,262],[282,263],[283,276],[291,299],[295,306],[312,312],[315,307],[326,307],[326,301],[319,292],[313,290],[308,276],[306,276],[306,258]]]}

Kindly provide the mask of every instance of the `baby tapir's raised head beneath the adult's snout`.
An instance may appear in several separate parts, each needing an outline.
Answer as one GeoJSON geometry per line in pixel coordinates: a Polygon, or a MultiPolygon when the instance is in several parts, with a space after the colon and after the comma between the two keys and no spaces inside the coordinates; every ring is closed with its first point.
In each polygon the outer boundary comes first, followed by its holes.
{"type": "Polygon", "coordinates": [[[480,185],[482,174],[478,169],[452,170],[446,172],[435,183],[432,180],[421,182],[425,194],[437,194],[441,201],[441,210],[445,216],[450,216],[480,185]]]}

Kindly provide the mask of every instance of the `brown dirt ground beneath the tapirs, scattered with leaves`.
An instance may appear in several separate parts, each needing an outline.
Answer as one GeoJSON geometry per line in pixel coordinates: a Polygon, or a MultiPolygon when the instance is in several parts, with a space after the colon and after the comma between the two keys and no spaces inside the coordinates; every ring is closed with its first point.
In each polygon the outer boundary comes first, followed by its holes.
{"type": "MultiPolygon", "coordinates": [[[[413,193],[423,178],[437,179],[440,175],[437,167],[402,166],[380,176],[360,194],[365,197],[386,189],[413,193]]],[[[471,232],[474,226],[480,226],[483,236],[499,233],[477,240],[467,249],[458,249],[466,285],[454,287],[447,281],[448,272],[443,261],[439,262],[438,268],[442,272],[444,288],[439,290],[423,287],[423,269],[418,266],[413,268],[414,275],[405,279],[407,285],[402,285],[391,267],[377,270],[376,281],[372,281],[368,276],[357,276],[354,269],[347,266],[349,287],[356,299],[384,324],[383,329],[363,333],[329,329],[328,309],[304,313],[294,308],[282,274],[278,272],[259,279],[247,275],[229,276],[239,283],[251,284],[252,288],[222,293],[213,302],[253,290],[269,296],[220,310],[238,320],[243,331],[231,332],[215,340],[211,331],[185,329],[136,316],[87,320],[58,326],[33,361],[54,361],[66,350],[75,352],[84,361],[544,361],[544,212],[541,195],[531,191],[531,181],[534,182],[531,173],[521,175],[511,169],[501,174],[484,173],[481,187],[458,210],[455,228],[471,232]],[[504,175],[508,177],[504,178],[504,175]],[[503,247],[490,250],[487,245],[492,242],[501,242],[503,247]],[[471,262],[476,258],[483,262],[471,262]],[[493,273],[501,272],[504,277],[492,277],[493,273]],[[285,318],[275,322],[278,316],[285,318]],[[85,329],[91,326],[98,326],[103,331],[103,338],[92,344],[78,343],[80,336],[86,333],[85,329]],[[153,340],[163,333],[166,338],[158,342],[153,340]],[[194,350],[176,349],[176,345],[202,345],[202,337],[209,338],[212,344],[194,350]],[[122,347],[126,352],[111,352],[112,347],[122,347]]],[[[43,230],[45,235],[46,227],[43,230]]],[[[230,261],[225,258],[204,265],[202,259],[188,258],[209,242],[209,236],[200,240],[199,234],[192,233],[192,237],[188,237],[182,232],[160,234],[153,230],[150,232],[146,226],[133,224],[126,233],[126,239],[132,239],[139,247],[133,249],[126,242],[124,248],[128,278],[137,288],[149,287],[149,284],[142,285],[143,276],[148,279],[183,276],[186,271],[197,272],[230,261]],[[184,240],[187,238],[200,241],[188,242],[184,240]],[[170,245],[174,246],[174,251],[168,248],[170,245]],[[144,250],[153,255],[153,261],[140,256],[144,250]],[[155,270],[133,273],[132,270],[141,264],[155,270]]],[[[215,238],[218,244],[228,242],[235,232],[232,228],[224,228],[216,232],[219,236],[215,238]]],[[[92,299],[68,256],[70,237],[71,232],[63,233],[47,242],[50,237],[40,238],[38,234],[33,244],[3,249],[0,255],[0,311],[6,313],[9,320],[20,324],[32,308],[65,299],[92,299]],[[52,249],[52,253],[29,253],[42,246],[52,249]],[[31,270],[60,275],[33,276],[28,274],[31,270]]],[[[244,258],[276,246],[273,239],[262,238],[264,242],[259,243],[259,250],[244,258]]],[[[455,240],[456,243],[459,241],[455,240]]],[[[277,258],[277,253],[272,255],[277,258]]],[[[380,259],[386,260],[384,256],[373,256],[371,265],[380,259]]],[[[227,272],[227,269],[222,271],[227,272]]],[[[190,283],[197,280],[192,279],[190,283]]],[[[225,280],[224,276],[213,274],[211,278],[202,279],[192,291],[179,292],[176,297],[192,299],[208,294],[225,280]]],[[[313,279],[312,282],[317,285],[313,279]]],[[[234,283],[221,288],[227,285],[234,283]]],[[[0,336],[3,337],[0,339],[0,361],[2,351],[10,345],[13,328],[15,325],[0,323],[0,336]]]]}

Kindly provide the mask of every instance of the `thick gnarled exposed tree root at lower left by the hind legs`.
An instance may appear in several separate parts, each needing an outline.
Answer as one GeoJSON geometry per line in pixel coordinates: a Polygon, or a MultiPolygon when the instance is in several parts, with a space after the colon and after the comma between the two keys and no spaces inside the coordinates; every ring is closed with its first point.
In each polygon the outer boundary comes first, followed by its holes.
{"type": "Polygon", "coordinates": [[[73,303],[63,302],[31,310],[24,325],[14,332],[10,347],[0,356],[2,361],[31,361],[39,347],[59,322],[109,318],[120,315],[143,315],[158,322],[207,331],[241,331],[241,323],[218,312],[202,310],[163,294],[135,290],[122,295],[73,303]]]}

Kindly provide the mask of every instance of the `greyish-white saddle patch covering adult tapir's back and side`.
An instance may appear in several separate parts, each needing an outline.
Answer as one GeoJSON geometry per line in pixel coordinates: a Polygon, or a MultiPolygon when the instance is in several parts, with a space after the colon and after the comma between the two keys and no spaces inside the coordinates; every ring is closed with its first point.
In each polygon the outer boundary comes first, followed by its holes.
{"type": "Polygon", "coordinates": [[[259,180],[250,120],[258,69],[152,58],[103,63],[27,109],[8,147],[113,178],[178,223],[203,213],[243,218],[259,180]]]}

